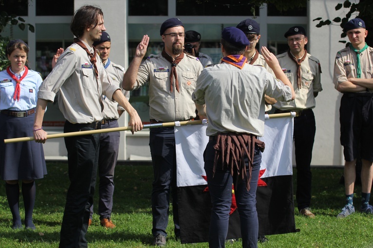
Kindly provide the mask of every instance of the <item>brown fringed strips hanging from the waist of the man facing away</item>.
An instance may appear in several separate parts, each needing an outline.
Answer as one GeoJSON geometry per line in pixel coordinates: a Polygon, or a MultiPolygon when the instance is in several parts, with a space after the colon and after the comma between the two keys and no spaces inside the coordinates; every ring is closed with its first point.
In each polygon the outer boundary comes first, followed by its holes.
{"type": "Polygon", "coordinates": [[[239,179],[246,181],[246,189],[250,190],[251,171],[253,169],[255,143],[261,151],[264,151],[264,142],[256,139],[253,134],[218,133],[216,137],[215,158],[213,175],[215,175],[217,162],[221,161],[221,166],[228,166],[231,175],[235,178],[235,190],[239,179]],[[249,160],[249,175],[246,173],[245,155],[249,160]]]}

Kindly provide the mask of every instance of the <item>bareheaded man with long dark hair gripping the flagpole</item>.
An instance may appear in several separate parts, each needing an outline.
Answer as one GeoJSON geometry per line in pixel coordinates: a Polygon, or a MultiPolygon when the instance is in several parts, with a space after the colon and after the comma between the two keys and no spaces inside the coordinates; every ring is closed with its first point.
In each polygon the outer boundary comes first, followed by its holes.
{"type": "MultiPolygon", "coordinates": [[[[132,131],[142,129],[136,110],[123,96],[119,84],[107,75],[92,47],[105,31],[102,10],[84,5],[74,14],[70,29],[74,43],[59,57],[56,66],[43,81],[38,92],[34,122],[36,142],[45,142],[47,133],[42,121],[48,102],[59,91],[59,109],[66,119],[63,131],[79,132],[101,128],[103,103],[101,95],[115,100],[130,115],[132,131]]],[[[65,137],[70,186],[66,194],[59,247],[87,247],[90,207],[95,193],[100,134],[65,137]]]]}

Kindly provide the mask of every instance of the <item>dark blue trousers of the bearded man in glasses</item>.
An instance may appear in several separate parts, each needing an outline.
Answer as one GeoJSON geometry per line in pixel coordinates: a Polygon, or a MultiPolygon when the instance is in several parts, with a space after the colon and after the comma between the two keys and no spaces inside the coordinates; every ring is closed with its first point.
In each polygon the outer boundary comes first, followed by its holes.
{"type": "Polygon", "coordinates": [[[180,237],[174,127],[151,128],[149,145],[154,171],[152,192],[153,236],[158,233],[167,236],[166,228],[171,194],[175,236],[180,237]]]}

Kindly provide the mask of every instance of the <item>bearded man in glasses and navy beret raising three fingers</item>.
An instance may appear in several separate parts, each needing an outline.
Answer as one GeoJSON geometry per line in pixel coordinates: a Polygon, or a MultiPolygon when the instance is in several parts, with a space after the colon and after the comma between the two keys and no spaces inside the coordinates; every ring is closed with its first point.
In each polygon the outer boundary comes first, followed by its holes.
{"type": "MultiPolygon", "coordinates": [[[[164,21],[160,35],[164,50],[160,54],[150,55],[141,64],[149,43],[148,35],[143,36],[124,75],[123,88],[133,90],[149,84],[149,116],[152,124],[191,120],[196,117],[192,93],[203,67],[196,57],[183,53],[185,33],[178,18],[164,21]]],[[[155,177],[152,192],[153,245],[164,246],[171,188],[175,236],[180,237],[174,127],[151,128],[149,145],[155,177]]]]}

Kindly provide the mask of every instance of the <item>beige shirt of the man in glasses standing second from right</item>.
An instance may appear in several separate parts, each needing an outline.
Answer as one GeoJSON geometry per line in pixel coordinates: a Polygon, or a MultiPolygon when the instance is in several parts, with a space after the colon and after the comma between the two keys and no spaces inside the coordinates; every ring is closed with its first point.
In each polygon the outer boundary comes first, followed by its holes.
{"type": "Polygon", "coordinates": [[[320,92],[321,79],[319,61],[311,54],[307,53],[306,59],[301,63],[301,89],[298,88],[297,65],[289,57],[288,53],[276,56],[282,70],[292,83],[295,91],[295,100],[285,103],[277,101],[273,106],[281,110],[303,110],[314,108],[316,105],[314,92],[320,92]]]}

